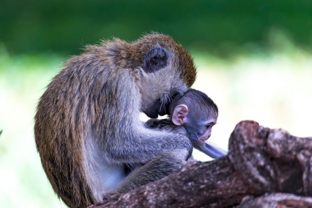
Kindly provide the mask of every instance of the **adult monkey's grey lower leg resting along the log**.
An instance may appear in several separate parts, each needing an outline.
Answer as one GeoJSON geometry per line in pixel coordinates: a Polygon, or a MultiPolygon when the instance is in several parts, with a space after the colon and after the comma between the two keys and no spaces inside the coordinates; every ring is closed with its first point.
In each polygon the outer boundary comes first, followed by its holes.
{"type": "Polygon", "coordinates": [[[186,162],[174,153],[163,153],[147,164],[132,171],[118,188],[125,193],[142,185],[157,181],[179,170],[186,162]]]}

